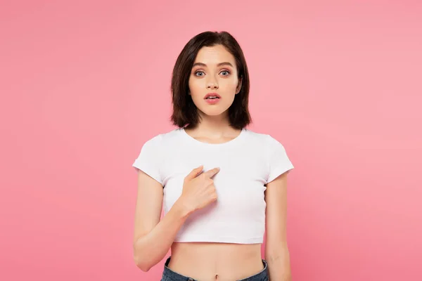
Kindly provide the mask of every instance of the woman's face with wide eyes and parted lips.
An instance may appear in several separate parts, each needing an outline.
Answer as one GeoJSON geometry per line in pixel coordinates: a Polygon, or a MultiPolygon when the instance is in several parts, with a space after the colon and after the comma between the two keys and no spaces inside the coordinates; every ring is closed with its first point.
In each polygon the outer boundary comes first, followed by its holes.
{"type": "Polygon", "coordinates": [[[241,90],[235,58],[222,45],[203,47],[198,51],[189,77],[193,103],[201,116],[226,115],[236,93],[241,90]],[[208,93],[217,99],[205,98],[208,93]]]}

